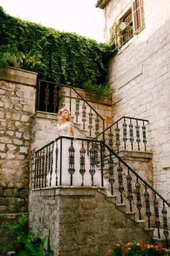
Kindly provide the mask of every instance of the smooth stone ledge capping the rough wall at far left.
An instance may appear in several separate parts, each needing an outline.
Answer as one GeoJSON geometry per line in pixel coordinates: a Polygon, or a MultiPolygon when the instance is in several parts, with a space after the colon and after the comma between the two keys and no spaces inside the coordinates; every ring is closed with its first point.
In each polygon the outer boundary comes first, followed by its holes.
{"type": "Polygon", "coordinates": [[[0,79],[15,83],[23,83],[29,86],[36,86],[36,75],[36,72],[31,72],[24,69],[15,69],[14,67],[7,67],[4,72],[0,72],[0,79]]]}

